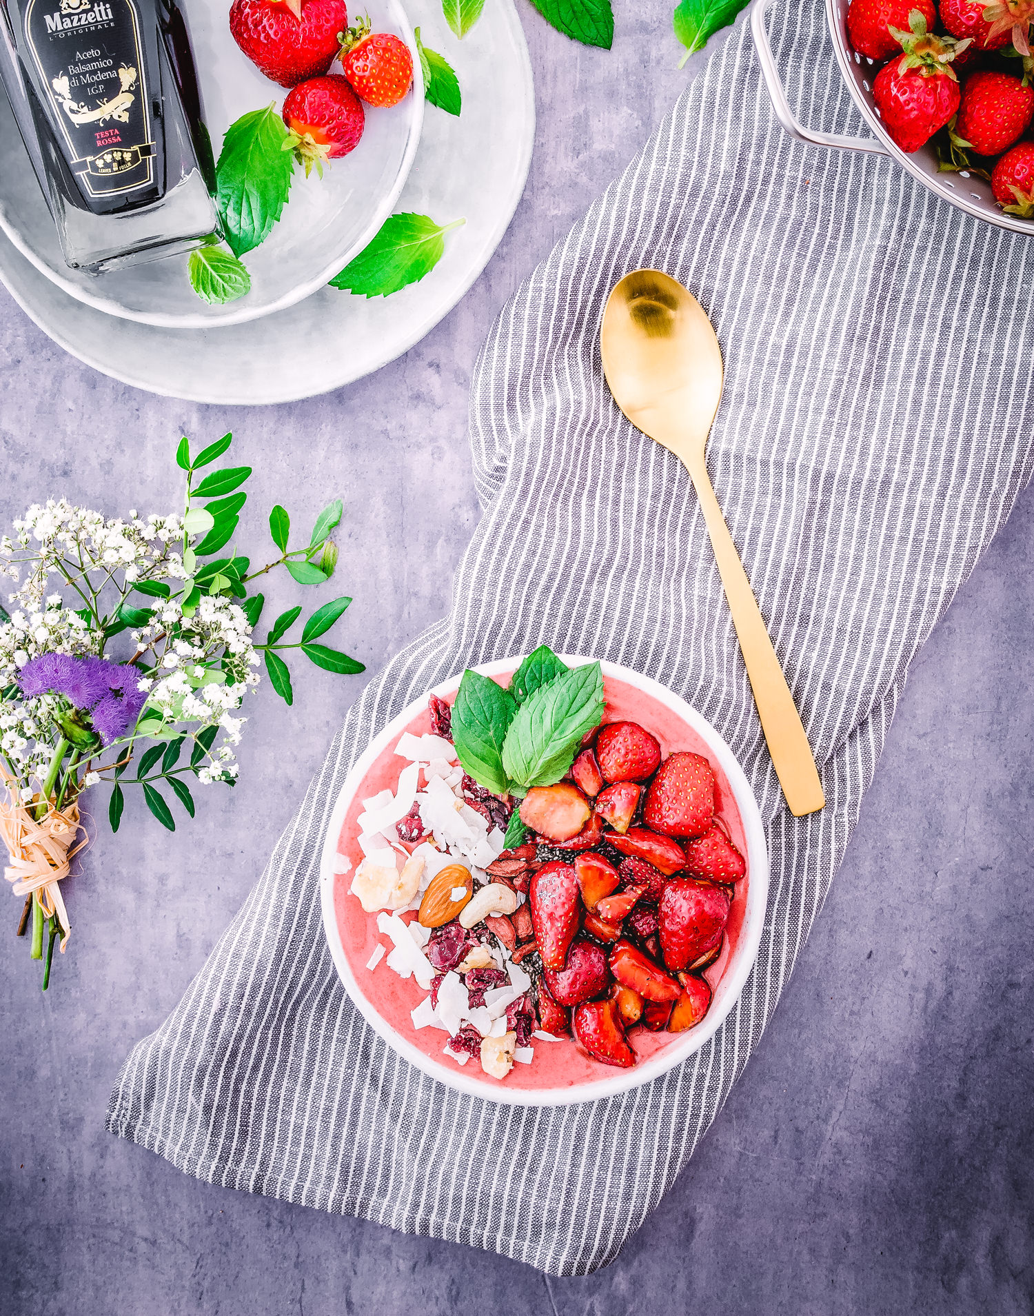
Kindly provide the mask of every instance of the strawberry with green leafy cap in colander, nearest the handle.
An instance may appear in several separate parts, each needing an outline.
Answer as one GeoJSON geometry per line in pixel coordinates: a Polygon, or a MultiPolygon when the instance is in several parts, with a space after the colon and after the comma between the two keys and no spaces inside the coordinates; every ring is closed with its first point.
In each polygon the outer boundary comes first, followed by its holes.
{"type": "Polygon", "coordinates": [[[927,33],[918,11],[909,16],[909,29],[892,29],[904,54],[876,74],[872,97],[891,138],[902,151],[912,153],[959,108],[959,80],[951,61],[970,43],[927,33]]]}

